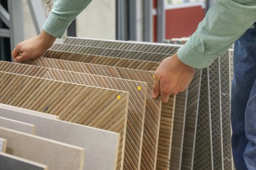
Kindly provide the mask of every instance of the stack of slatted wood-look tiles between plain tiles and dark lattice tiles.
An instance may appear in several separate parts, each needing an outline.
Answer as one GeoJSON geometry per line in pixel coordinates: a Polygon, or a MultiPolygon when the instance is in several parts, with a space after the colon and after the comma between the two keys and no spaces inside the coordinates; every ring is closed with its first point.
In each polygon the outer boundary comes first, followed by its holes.
{"type": "MultiPolygon", "coordinates": [[[[178,49],[69,37],[29,65],[1,62],[1,92],[12,91],[0,100],[119,133],[116,169],[181,169],[192,160],[201,70],[186,92],[169,96],[167,104],[150,95],[154,71],[178,49]]],[[[93,163],[85,159],[84,167],[93,163]]]]}

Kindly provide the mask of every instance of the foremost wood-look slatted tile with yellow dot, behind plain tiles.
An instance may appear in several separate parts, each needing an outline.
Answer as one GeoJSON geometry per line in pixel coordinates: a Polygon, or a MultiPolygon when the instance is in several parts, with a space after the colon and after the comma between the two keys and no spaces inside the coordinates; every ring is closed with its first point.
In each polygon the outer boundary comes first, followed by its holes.
{"type": "Polygon", "coordinates": [[[3,72],[0,87],[1,103],[120,133],[117,169],[122,167],[129,93],[3,72]]]}

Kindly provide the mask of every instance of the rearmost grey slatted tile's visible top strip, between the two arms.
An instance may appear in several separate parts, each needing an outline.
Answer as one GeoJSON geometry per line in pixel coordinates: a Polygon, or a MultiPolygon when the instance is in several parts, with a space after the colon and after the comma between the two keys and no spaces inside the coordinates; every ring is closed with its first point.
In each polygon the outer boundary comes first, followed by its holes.
{"type": "Polygon", "coordinates": [[[177,52],[179,45],[162,44],[152,42],[138,42],[138,41],[112,41],[106,39],[89,39],[81,37],[67,37],[65,44],[74,44],[81,46],[97,46],[103,48],[113,48],[120,50],[133,50],[139,52],[155,52],[158,54],[174,54],[177,52]]]}

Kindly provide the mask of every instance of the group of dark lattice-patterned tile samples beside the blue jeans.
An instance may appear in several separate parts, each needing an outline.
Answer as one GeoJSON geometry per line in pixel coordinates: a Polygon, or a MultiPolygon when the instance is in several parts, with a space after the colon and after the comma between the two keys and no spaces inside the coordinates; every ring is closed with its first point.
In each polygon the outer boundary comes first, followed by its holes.
{"type": "MultiPolygon", "coordinates": [[[[180,42],[184,43],[183,39],[180,42]]],[[[234,169],[230,141],[232,52],[228,50],[211,66],[202,69],[196,141],[188,169],[234,169]]]]}

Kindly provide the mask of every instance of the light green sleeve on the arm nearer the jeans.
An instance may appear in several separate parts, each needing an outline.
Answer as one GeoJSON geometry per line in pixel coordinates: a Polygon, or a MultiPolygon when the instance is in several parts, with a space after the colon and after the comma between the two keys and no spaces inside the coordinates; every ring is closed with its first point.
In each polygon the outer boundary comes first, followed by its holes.
{"type": "Polygon", "coordinates": [[[177,55],[191,67],[208,67],[255,22],[255,0],[217,0],[177,55]]]}

